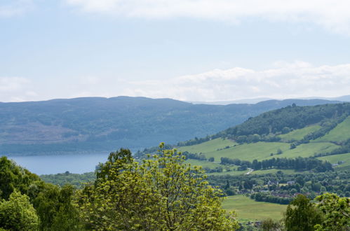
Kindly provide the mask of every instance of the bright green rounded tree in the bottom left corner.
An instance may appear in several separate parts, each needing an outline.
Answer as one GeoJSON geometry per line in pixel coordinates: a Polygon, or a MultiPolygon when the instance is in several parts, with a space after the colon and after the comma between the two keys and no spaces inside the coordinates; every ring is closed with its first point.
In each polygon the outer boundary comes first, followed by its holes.
{"type": "Polygon", "coordinates": [[[27,195],[13,192],[8,201],[0,202],[0,227],[4,230],[37,230],[38,225],[39,218],[27,195]]]}

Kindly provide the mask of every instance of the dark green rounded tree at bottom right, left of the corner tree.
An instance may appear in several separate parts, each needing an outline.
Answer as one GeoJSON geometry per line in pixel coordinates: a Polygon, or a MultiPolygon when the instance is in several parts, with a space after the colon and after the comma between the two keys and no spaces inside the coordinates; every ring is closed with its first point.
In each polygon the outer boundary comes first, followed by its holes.
{"type": "Polygon", "coordinates": [[[288,204],[284,216],[286,230],[315,230],[314,226],[321,222],[320,211],[304,195],[297,195],[295,200],[288,204]]]}

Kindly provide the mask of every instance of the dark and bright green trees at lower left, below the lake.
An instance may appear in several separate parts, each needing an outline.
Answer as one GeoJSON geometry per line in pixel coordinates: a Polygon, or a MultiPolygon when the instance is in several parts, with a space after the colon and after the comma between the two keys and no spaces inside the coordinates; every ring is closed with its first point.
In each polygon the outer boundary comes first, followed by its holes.
{"type": "Polygon", "coordinates": [[[6,157],[0,158],[0,228],[79,230],[74,188],[43,182],[6,157]]]}

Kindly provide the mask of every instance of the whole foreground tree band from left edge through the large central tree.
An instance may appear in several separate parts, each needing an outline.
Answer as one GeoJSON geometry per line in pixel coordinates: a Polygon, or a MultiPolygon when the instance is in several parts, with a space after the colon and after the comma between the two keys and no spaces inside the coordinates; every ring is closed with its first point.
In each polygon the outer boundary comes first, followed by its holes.
{"type": "MultiPolygon", "coordinates": [[[[81,190],[44,183],[0,159],[0,230],[236,230],[221,208],[222,192],[184,155],[159,147],[136,162],[121,149],[81,190]]],[[[65,174],[69,176],[69,173],[65,174]]]]}

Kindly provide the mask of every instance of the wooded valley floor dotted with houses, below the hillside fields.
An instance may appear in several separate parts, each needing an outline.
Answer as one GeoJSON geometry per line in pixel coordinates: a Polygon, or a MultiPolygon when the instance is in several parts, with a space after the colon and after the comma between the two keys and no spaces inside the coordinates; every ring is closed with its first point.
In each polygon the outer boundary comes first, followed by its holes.
{"type": "Polygon", "coordinates": [[[321,193],[337,193],[350,197],[350,172],[304,172],[300,174],[250,174],[208,176],[212,186],[221,188],[226,195],[265,193],[271,197],[293,197],[297,193],[314,199],[321,193]]]}

